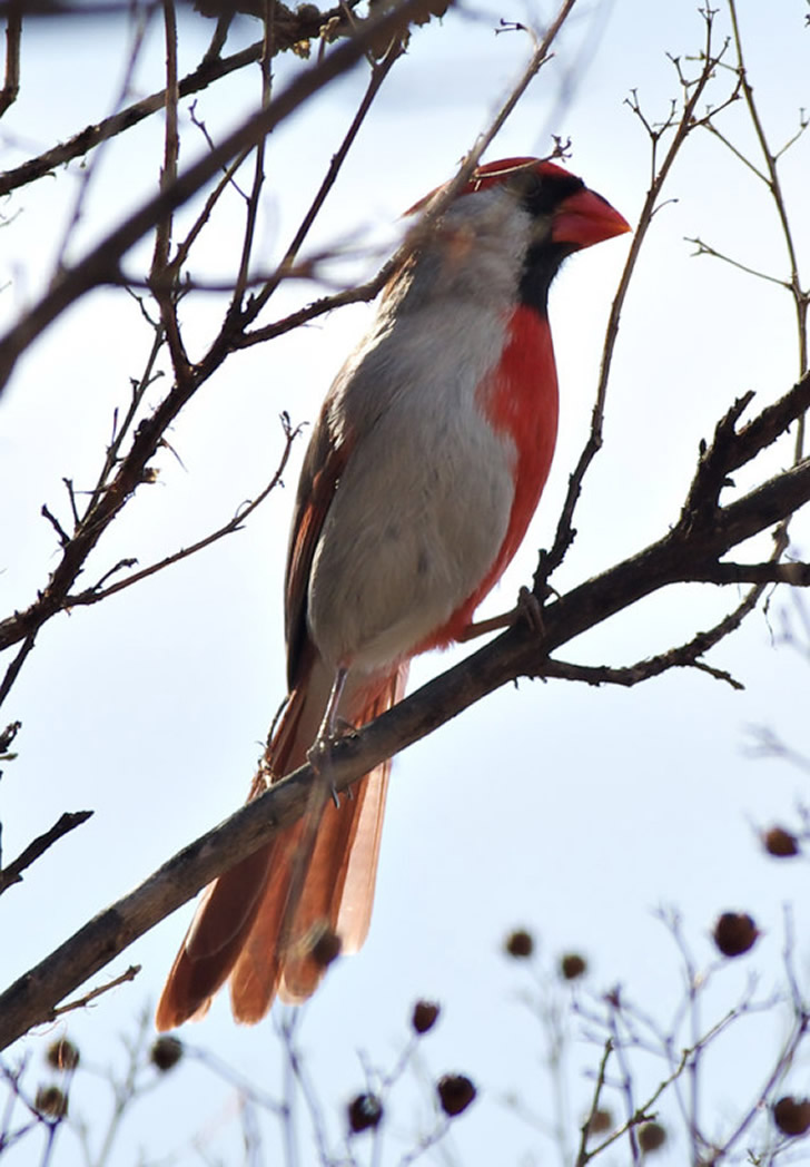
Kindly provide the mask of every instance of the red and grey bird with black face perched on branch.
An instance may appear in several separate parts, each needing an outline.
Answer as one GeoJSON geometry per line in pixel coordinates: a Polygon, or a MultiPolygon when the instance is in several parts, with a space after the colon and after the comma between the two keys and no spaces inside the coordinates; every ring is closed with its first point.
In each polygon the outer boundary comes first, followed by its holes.
{"type": "MultiPolygon", "coordinates": [[[[338,726],[396,704],[414,656],[469,636],[551,467],[551,281],[573,252],[629,230],[556,162],[508,158],[480,165],[404,249],[303,460],[284,584],[289,697],[249,797],[338,726]]],[[[226,980],[234,1019],[255,1023],[276,997],[307,1000],[338,946],[360,948],[389,770],[343,803],[321,798],[209,886],[159,1029],[203,1016],[226,980]]]]}

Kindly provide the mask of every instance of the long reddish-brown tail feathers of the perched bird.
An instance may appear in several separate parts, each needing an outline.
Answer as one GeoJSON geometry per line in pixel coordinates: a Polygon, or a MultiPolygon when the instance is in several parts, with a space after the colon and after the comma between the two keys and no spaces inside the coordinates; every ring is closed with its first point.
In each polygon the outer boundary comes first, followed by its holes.
{"type": "MultiPolygon", "coordinates": [[[[350,682],[341,717],[357,726],[373,720],[400,700],[407,675],[402,665],[362,687],[350,682]]],[[[293,692],[268,750],[274,775],[281,777],[307,761],[330,685],[318,661],[307,683],[293,692]]],[[[324,930],[337,932],[343,952],[360,948],[374,900],[389,770],[390,762],[378,766],[339,808],[326,803],[309,858],[302,855],[305,820],[300,820],[211,883],[163,988],[159,1029],[202,1018],[228,977],[237,1021],[259,1021],[276,993],[297,1002],[315,992],[324,964],[314,959],[311,949],[324,930]]],[[[254,780],[249,798],[263,789],[254,780]]]]}

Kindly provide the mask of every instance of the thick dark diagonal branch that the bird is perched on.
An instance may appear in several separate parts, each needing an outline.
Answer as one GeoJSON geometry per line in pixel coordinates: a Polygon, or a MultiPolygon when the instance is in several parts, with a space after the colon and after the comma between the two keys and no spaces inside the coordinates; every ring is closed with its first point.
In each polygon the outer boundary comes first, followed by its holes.
{"type": "MultiPolygon", "coordinates": [[[[810,394],[810,376],[800,384],[810,394]]],[[[803,400],[791,392],[801,408],[803,400]]],[[[742,442],[745,434],[746,429],[742,442]]],[[[346,790],[375,766],[500,686],[519,677],[554,676],[557,665],[549,656],[555,649],[660,588],[699,579],[707,564],[737,543],[768,530],[809,501],[810,462],[805,462],[718,508],[706,522],[683,515],[657,543],[549,605],[542,636],[527,627],[510,628],[359,733],[336,743],[330,764],[334,790],[346,790]]],[[[274,784],[184,847],[21,977],[0,995],[0,1048],[49,1016],[66,994],[212,879],[296,822],[304,813],[312,781],[312,769],[305,766],[274,784]]]]}

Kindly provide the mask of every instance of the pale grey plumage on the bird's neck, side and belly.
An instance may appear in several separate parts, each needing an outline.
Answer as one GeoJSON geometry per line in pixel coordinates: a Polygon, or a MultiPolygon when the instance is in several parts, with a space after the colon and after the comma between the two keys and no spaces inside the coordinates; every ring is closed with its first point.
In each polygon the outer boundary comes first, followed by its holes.
{"type": "Polygon", "coordinates": [[[486,424],[477,390],[503,348],[529,229],[508,194],[465,196],[338,377],[330,420],[353,448],[308,596],[332,668],[407,656],[502,545],[515,450],[486,424]]]}

